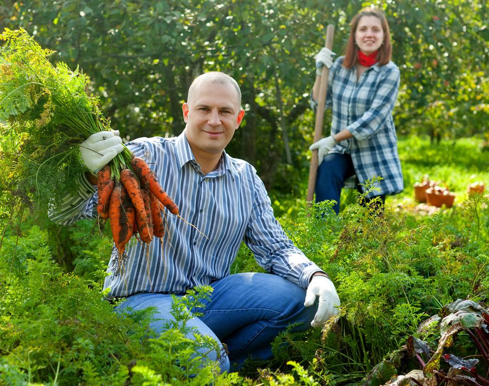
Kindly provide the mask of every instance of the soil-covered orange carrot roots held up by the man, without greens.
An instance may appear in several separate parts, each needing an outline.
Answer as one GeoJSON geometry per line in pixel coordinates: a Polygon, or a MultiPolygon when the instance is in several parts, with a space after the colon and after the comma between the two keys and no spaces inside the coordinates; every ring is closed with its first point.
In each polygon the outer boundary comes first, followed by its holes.
{"type": "Polygon", "coordinates": [[[146,243],[153,236],[163,237],[165,207],[175,215],[179,211],[142,158],[132,157],[131,168],[122,169],[119,175],[119,180],[111,178],[110,165],[98,172],[97,212],[102,220],[110,220],[120,259],[132,235],[139,234],[146,243]]]}

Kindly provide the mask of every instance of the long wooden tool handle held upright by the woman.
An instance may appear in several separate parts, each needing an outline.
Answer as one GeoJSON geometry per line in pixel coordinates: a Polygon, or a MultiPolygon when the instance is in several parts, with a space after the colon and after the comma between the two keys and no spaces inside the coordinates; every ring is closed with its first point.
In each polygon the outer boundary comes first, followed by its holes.
{"type": "MultiPolygon", "coordinates": [[[[334,26],[328,24],[326,28],[326,42],[324,46],[326,48],[333,48],[333,33],[334,26]]],[[[328,89],[328,76],[329,68],[326,66],[322,67],[321,72],[321,83],[319,84],[319,98],[317,101],[317,111],[316,111],[316,124],[314,126],[314,143],[319,141],[322,137],[323,131],[323,120],[324,120],[324,104],[326,102],[326,90],[328,89]]],[[[316,188],[316,175],[317,175],[317,150],[313,150],[311,154],[311,165],[309,168],[309,182],[307,184],[307,197],[306,201],[312,204],[312,198],[314,196],[314,190],[316,188]]]]}

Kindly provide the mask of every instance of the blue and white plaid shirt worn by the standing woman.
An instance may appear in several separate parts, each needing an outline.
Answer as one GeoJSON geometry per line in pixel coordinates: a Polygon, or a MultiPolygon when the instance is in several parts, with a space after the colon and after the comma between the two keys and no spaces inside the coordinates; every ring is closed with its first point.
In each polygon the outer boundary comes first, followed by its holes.
{"type": "MultiPolygon", "coordinates": [[[[393,62],[374,64],[357,82],[355,66],[343,67],[343,59],[344,56],[337,58],[329,70],[326,108],[333,109],[331,135],[348,129],[353,137],[339,142],[330,153],[350,154],[361,184],[375,176],[383,178],[376,184],[379,190],[369,193],[369,197],[399,193],[404,183],[392,120],[399,68],[393,62]]],[[[315,109],[317,102],[312,93],[310,101],[315,109]]]]}

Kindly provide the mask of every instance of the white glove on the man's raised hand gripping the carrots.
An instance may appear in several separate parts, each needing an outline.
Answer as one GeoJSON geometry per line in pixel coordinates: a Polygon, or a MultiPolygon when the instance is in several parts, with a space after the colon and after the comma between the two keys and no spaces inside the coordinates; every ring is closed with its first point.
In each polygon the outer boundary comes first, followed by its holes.
{"type": "Polygon", "coordinates": [[[122,140],[117,130],[92,134],[80,144],[81,158],[93,174],[97,174],[117,154],[122,152],[122,149],[122,140]]]}

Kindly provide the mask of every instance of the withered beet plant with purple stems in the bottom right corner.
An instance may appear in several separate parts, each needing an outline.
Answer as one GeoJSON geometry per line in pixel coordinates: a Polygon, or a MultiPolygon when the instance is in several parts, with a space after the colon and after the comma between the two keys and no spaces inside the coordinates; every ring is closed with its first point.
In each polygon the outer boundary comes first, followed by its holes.
{"type": "MultiPolygon", "coordinates": [[[[410,336],[407,345],[395,353],[398,358],[395,361],[397,368],[399,370],[403,368],[402,372],[409,371],[409,373],[392,377],[388,381],[389,377],[382,374],[381,365],[394,362],[392,360],[383,361],[360,382],[360,385],[373,385],[375,378],[381,383],[382,380],[387,381],[385,385],[407,385],[409,382],[417,385],[444,385],[447,382],[456,385],[489,385],[487,378],[489,371],[488,311],[473,301],[458,299],[445,306],[440,313],[444,316],[443,319],[434,315],[427,320],[431,324],[430,334],[433,334],[434,328],[438,330],[439,340],[436,350],[433,350],[427,342],[410,336]],[[476,353],[469,354],[473,358],[465,359],[451,353],[444,354],[448,349],[457,350],[457,336],[464,332],[470,336],[476,348],[476,353]],[[413,365],[412,361],[409,362],[410,358],[416,359],[418,366],[421,367],[420,370],[411,370],[413,365]],[[441,359],[444,360],[445,365],[441,359]],[[481,366],[478,366],[481,361],[481,366]],[[401,365],[402,362],[404,365],[401,365]]],[[[422,333],[425,328],[426,322],[420,325],[418,332],[422,333]]],[[[465,349],[462,349],[462,352],[465,352],[465,349]]],[[[395,367],[393,370],[390,373],[391,376],[398,374],[395,367]]]]}

